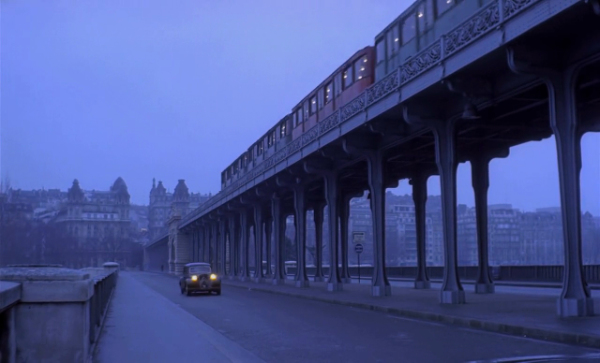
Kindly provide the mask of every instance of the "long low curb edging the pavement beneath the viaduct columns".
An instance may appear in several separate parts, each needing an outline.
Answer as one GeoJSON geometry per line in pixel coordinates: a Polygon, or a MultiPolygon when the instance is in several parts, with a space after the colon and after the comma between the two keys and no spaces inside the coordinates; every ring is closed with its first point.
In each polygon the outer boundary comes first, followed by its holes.
{"type": "Polygon", "coordinates": [[[297,298],[306,299],[306,300],[321,301],[321,302],[330,303],[330,304],[350,306],[353,308],[378,311],[378,312],[391,314],[391,315],[395,315],[395,316],[400,316],[400,317],[406,317],[406,318],[412,318],[412,319],[418,319],[418,320],[424,320],[424,321],[432,321],[432,322],[437,322],[437,323],[445,323],[445,324],[449,324],[449,325],[456,325],[456,326],[461,326],[461,327],[465,327],[465,328],[484,330],[484,331],[489,331],[489,332],[493,332],[493,333],[501,333],[501,334],[506,334],[506,335],[532,338],[532,339],[538,339],[538,340],[543,340],[543,341],[571,344],[571,345],[577,345],[577,346],[582,346],[582,347],[587,347],[587,348],[596,348],[596,349],[600,348],[600,336],[558,332],[558,331],[542,329],[542,328],[531,328],[531,327],[512,325],[512,324],[496,323],[496,322],[492,322],[492,321],[486,321],[486,320],[475,319],[475,318],[463,318],[463,317],[459,317],[459,316],[450,316],[450,315],[443,315],[443,314],[410,310],[410,309],[390,308],[390,307],[386,307],[386,306],[374,305],[374,304],[369,304],[369,303],[357,303],[357,302],[352,302],[352,301],[339,300],[339,299],[335,299],[335,298],[323,298],[320,296],[296,294],[296,293],[287,292],[287,291],[277,291],[277,290],[273,290],[273,289],[264,288],[258,284],[257,284],[257,286],[247,286],[247,285],[239,285],[239,284],[231,283],[230,281],[223,281],[223,283],[227,286],[232,286],[232,287],[236,287],[236,288],[240,288],[240,289],[246,289],[246,290],[250,290],[250,291],[266,292],[266,293],[271,293],[271,294],[276,294],[276,295],[292,296],[292,297],[297,297],[297,298]]]}

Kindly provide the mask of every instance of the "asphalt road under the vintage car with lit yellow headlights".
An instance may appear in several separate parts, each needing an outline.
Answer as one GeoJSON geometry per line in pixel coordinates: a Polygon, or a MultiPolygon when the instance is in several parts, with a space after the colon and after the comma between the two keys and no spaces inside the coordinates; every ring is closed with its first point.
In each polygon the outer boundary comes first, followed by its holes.
{"type": "Polygon", "coordinates": [[[221,296],[187,297],[172,276],[128,274],[266,362],[450,363],[594,352],[226,285],[221,296]]]}

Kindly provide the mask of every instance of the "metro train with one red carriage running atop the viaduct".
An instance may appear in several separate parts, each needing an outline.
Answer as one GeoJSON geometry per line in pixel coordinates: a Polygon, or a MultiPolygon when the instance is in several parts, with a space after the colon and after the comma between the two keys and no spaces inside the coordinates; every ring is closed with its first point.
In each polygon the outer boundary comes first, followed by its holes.
{"type": "Polygon", "coordinates": [[[457,24],[498,0],[419,0],[352,55],[221,173],[223,191],[313,126],[398,69],[457,24]]]}

